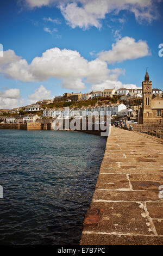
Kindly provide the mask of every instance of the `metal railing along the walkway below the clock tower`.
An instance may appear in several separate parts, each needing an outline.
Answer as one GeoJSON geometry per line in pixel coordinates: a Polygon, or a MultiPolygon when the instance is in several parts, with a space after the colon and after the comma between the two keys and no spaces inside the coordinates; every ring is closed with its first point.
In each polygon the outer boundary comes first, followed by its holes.
{"type": "Polygon", "coordinates": [[[150,136],[163,143],[163,125],[132,125],[134,132],[150,136]]]}

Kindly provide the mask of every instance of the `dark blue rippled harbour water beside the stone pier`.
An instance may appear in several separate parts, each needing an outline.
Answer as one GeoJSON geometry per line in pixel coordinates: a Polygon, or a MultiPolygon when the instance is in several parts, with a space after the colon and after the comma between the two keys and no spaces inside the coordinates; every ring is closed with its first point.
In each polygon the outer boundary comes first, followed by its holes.
{"type": "Polygon", "coordinates": [[[106,139],[0,130],[0,244],[77,245],[106,139]]]}

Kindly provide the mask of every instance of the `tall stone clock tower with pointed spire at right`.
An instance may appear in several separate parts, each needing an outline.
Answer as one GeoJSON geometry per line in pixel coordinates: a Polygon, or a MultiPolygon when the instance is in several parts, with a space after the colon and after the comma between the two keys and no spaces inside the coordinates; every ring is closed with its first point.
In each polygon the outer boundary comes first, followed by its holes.
{"type": "Polygon", "coordinates": [[[149,81],[149,75],[146,71],[145,81],[142,82],[142,95],[143,95],[143,123],[153,118],[152,114],[152,81],[149,81]]]}

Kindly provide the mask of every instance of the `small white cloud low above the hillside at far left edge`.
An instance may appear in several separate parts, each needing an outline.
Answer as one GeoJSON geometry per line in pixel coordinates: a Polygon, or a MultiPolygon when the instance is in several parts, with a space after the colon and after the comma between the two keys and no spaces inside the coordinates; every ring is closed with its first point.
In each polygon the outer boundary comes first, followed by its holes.
{"type": "Polygon", "coordinates": [[[20,98],[20,90],[16,88],[0,92],[0,109],[11,109],[13,107],[22,106],[24,100],[20,98]]]}

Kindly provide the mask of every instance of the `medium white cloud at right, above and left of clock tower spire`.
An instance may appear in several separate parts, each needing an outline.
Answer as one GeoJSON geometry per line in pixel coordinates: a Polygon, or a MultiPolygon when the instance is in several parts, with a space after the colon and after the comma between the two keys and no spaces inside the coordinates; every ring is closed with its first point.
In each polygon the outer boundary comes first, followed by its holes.
{"type": "Polygon", "coordinates": [[[107,61],[109,64],[123,62],[123,60],[137,59],[150,54],[146,41],[135,41],[134,38],[125,36],[112,44],[112,49],[98,54],[99,59],[107,61]]]}

